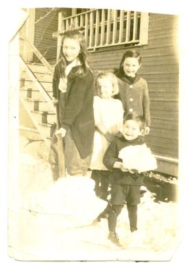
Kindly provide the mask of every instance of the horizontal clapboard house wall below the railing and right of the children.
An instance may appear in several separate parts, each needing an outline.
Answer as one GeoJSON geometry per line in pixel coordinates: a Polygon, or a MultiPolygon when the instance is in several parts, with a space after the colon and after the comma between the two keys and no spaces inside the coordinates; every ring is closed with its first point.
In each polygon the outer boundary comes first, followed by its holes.
{"type": "MultiPolygon", "coordinates": [[[[151,132],[147,144],[153,153],[178,157],[178,51],[177,16],[149,14],[149,40],[135,47],[142,55],[142,75],[149,86],[151,132]]],[[[131,48],[131,47],[130,47],[131,48]]],[[[123,46],[108,47],[90,53],[95,70],[112,70],[119,66],[123,46]]]]}

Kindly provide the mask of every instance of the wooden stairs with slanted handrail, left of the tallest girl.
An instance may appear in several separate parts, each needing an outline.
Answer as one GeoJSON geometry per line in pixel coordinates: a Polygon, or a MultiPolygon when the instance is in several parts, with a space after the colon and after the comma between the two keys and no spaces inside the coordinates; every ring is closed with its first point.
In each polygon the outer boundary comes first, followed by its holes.
{"type": "Polygon", "coordinates": [[[53,73],[43,64],[25,63],[22,58],[20,62],[19,99],[21,110],[24,110],[20,112],[20,134],[29,140],[45,140],[49,144],[56,127],[52,102],[53,73]]]}

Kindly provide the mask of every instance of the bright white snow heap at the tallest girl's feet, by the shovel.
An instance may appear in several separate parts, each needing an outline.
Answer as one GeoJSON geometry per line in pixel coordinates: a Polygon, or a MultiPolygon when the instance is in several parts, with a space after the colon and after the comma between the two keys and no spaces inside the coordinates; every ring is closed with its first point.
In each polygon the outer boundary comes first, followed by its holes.
{"type": "Polygon", "coordinates": [[[34,194],[29,209],[34,212],[78,216],[87,223],[106,207],[106,201],[95,195],[94,186],[95,182],[88,177],[60,178],[41,194],[34,194]]]}

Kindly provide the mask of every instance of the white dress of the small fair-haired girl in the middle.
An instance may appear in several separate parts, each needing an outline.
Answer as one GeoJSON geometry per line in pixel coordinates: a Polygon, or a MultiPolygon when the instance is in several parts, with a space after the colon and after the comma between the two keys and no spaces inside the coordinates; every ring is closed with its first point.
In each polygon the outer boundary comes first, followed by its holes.
{"type": "MultiPolygon", "coordinates": [[[[107,131],[118,133],[123,129],[123,105],[119,99],[101,99],[94,97],[95,125],[103,125],[107,131]]],[[[91,170],[107,170],[103,164],[103,155],[108,149],[110,142],[99,131],[95,131],[93,155],[91,158],[91,170]]]]}

